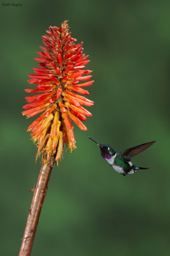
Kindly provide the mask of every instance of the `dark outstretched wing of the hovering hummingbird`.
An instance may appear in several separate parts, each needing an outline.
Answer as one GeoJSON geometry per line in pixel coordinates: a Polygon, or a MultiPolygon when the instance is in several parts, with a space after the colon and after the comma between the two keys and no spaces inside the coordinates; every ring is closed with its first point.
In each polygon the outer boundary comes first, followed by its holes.
{"type": "Polygon", "coordinates": [[[146,148],[150,147],[153,143],[155,143],[156,140],[151,141],[151,142],[147,142],[141,145],[138,145],[136,147],[132,147],[132,148],[127,148],[126,150],[124,150],[122,152],[122,156],[127,160],[127,161],[131,161],[131,158],[134,156],[137,156],[138,154],[140,154],[141,152],[143,152],[144,150],[146,150],[146,148]]]}

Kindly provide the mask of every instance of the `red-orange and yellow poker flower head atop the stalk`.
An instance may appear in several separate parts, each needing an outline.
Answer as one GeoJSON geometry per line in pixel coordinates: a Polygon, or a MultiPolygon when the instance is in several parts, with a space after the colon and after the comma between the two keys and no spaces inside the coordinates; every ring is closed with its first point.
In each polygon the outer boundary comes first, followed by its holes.
{"type": "Polygon", "coordinates": [[[92,106],[94,102],[78,93],[89,94],[83,87],[94,81],[87,81],[92,71],[83,68],[89,63],[89,56],[82,53],[82,42],[74,43],[76,39],[71,37],[67,21],[60,28],[50,26],[46,32],[48,35],[43,36],[45,46],[40,46],[42,51],[37,51],[39,57],[34,58],[39,61],[39,68],[33,68],[35,74],[30,74],[28,80],[38,86],[25,89],[25,92],[39,94],[25,97],[29,103],[23,107],[26,110],[22,114],[31,117],[43,112],[29,125],[28,131],[32,132],[32,140],[38,141],[36,156],[42,154],[46,161],[53,156],[58,162],[64,143],[71,152],[76,147],[71,120],[81,130],[87,130],[81,121],[92,114],[82,106],[92,106]]]}

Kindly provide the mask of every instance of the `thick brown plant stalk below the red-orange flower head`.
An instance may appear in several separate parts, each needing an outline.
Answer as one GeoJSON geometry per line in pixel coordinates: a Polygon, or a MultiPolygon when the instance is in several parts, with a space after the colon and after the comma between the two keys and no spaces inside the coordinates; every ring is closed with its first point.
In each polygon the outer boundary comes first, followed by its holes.
{"type": "Polygon", "coordinates": [[[36,187],[34,188],[34,195],[32,198],[31,208],[29,209],[29,215],[27,217],[27,223],[25,226],[19,256],[29,256],[31,254],[36,228],[38,226],[39,215],[45,201],[46,189],[48,186],[48,181],[50,180],[52,168],[53,159],[50,161],[50,163],[43,163],[41,166],[38,181],[36,187]]]}

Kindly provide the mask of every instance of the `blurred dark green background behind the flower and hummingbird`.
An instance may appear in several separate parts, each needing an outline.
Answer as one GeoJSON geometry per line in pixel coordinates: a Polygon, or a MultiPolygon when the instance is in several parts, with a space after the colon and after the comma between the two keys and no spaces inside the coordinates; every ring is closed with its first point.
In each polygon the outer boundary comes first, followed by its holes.
{"type": "MultiPolygon", "coordinates": [[[[13,3],[4,1],[4,3],[13,3]]],[[[95,83],[88,131],[55,167],[32,255],[169,255],[169,1],[24,1],[2,6],[1,255],[18,255],[40,159],[21,115],[27,74],[48,26],[69,20],[95,83]],[[87,136],[122,150],[157,140],[123,177],[87,136]]]]}

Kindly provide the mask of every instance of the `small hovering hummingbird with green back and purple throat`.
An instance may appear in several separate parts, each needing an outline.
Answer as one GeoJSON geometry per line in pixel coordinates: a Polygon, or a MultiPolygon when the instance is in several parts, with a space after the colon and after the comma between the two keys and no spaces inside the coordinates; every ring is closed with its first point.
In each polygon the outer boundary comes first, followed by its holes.
{"type": "Polygon", "coordinates": [[[128,148],[122,152],[117,152],[111,148],[110,145],[98,143],[89,136],[88,138],[94,141],[100,147],[101,156],[111,165],[111,167],[124,176],[127,174],[133,174],[138,170],[148,169],[132,164],[131,159],[156,142],[147,142],[136,147],[128,148]]]}

